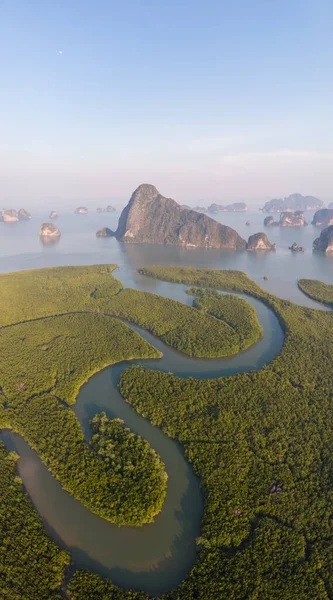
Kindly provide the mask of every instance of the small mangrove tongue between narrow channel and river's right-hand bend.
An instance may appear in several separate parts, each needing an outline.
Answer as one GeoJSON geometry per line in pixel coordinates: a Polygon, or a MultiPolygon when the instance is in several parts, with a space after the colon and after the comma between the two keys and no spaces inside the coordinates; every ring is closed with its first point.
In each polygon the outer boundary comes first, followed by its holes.
{"type": "Polygon", "coordinates": [[[233,294],[219,294],[215,290],[191,288],[189,294],[195,296],[194,308],[228,323],[239,337],[239,349],[245,350],[258,341],[262,335],[255,308],[233,294]]]}

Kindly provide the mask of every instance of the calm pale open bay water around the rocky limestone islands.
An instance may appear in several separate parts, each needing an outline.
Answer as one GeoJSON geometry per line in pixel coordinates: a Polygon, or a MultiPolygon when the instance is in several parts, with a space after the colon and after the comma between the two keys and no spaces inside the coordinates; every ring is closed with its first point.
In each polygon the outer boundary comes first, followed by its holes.
{"type": "MultiPolygon", "coordinates": [[[[308,222],[311,222],[312,214],[306,214],[308,222]]],[[[259,211],[223,213],[218,220],[234,227],[246,239],[252,233],[265,231],[269,239],[276,243],[276,252],[184,249],[150,244],[124,244],[114,238],[96,238],[96,230],[103,226],[116,229],[118,213],[64,214],[56,221],[62,232],[59,242],[44,246],[38,232],[41,222],[47,219],[41,214],[33,216],[27,222],[13,225],[0,223],[0,273],[46,266],[117,263],[120,267],[117,274],[125,286],[140,286],[141,289],[144,287],[158,293],[160,284],[143,281],[136,273],[138,267],[164,264],[239,269],[272,293],[307,304],[308,300],[297,289],[297,279],[309,277],[327,283],[333,281],[333,257],[312,252],[313,240],[319,235],[320,229],[312,225],[302,228],[265,229],[264,217],[259,211]],[[251,222],[250,227],[245,225],[247,220],[251,222]],[[288,250],[288,246],[295,241],[304,246],[304,253],[294,254],[288,250]],[[263,281],[264,275],[268,277],[267,282],[263,281]]]]}

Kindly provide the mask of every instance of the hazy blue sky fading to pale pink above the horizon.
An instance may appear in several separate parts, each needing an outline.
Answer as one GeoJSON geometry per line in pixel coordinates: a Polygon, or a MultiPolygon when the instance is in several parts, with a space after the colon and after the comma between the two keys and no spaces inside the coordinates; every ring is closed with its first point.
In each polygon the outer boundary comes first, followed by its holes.
{"type": "Polygon", "coordinates": [[[333,200],[332,0],[0,0],[0,207],[333,200]]]}

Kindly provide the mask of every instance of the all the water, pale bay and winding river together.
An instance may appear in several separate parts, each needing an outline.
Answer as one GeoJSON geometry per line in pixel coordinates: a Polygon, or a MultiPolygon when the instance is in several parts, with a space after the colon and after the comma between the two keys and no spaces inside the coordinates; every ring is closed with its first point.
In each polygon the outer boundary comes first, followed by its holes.
{"type": "MultiPolygon", "coordinates": [[[[224,214],[223,221],[234,226],[243,237],[263,230],[262,213],[224,214]],[[245,221],[250,220],[248,227],[245,221]]],[[[158,293],[186,303],[185,286],[144,278],[137,268],[151,264],[187,265],[217,269],[239,269],[280,297],[320,308],[298,290],[300,277],[333,280],[333,258],[313,254],[312,241],[319,232],[309,226],[301,230],[267,230],[276,252],[249,253],[223,250],[185,250],[159,245],[123,244],[115,239],[96,238],[102,226],[116,228],[118,215],[64,215],[57,221],[62,237],[55,245],[44,246],[38,236],[43,219],[26,223],[0,223],[0,272],[45,266],[117,263],[116,275],[126,287],[158,293]],[[306,252],[292,254],[288,246],[297,241],[306,252]],[[268,281],[263,281],[263,276],[268,281]]],[[[222,220],[222,219],[221,219],[222,220]]],[[[309,217],[311,220],[311,217],[309,217]]],[[[263,338],[247,352],[231,359],[194,360],[165,346],[160,340],[136,328],[148,341],[163,351],[161,360],[135,361],[136,364],[181,377],[200,378],[231,375],[259,369],[280,351],[283,336],[274,314],[256,300],[264,329],[263,338]]],[[[199,481],[183,455],[182,447],[140,417],[121,398],[118,382],[121,372],[132,363],[104,369],[83,386],[75,412],[87,438],[89,419],[104,410],[121,417],[131,429],[145,437],[160,453],[169,475],[168,494],[162,513],[152,525],[142,528],[117,528],[92,515],[64,492],[36,453],[15,434],[4,432],[2,439],[21,456],[18,464],[24,485],[53,539],[67,548],[76,566],[88,567],[112,578],[123,587],[137,587],[151,594],[162,593],[186,575],[195,560],[195,538],[200,534],[202,497],[199,481]]]]}

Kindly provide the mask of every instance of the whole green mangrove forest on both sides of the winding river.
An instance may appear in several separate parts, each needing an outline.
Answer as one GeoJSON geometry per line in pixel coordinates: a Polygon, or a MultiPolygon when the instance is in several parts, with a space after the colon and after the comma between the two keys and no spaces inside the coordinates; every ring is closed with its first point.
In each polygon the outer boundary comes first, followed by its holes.
{"type": "MultiPolygon", "coordinates": [[[[64,285],[67,274],[46,270],[45,306],[40,306],[42,271],[17,274],[11,293],[10,276],[0,277],[5,303],[0,419],[91,511],[117,524],[141,525],[161,510],[167,483],[163,463],[142,438],[103,414],[92,419],[93,436],[86,443],[71,410],[81,385],[97,370],[129,358],[160,356],[110,315],[137,322],[194,356],[223,356],[215,347],[219,326],[236,336],[235,345],[228,337],[231,353],[237,344],[241,349],[253,343],[253,331],[256,339],[261,332],[239,298],[192,289],[194,308],[183,310],[180,303],[153,294],[121,291],[113,268],[71,268],[72,289],[63,295],[57,286],[64,285]],[[24,281],[24,292],[17,281],[24,281]],[[33,300],[31,314],[24,293],[33,300]],[[171,313],[176,315],[174,338],[170,328],[163,330],[171,313]],[[177,319],[194,335],[193,343],[188,331],[184,337],[177,329],[177,319]]],[[[135,366],[121,376],[126,401],[183,444],[205,500],[197,560],[184,581],[160,598],[333,598],[332,313],[281,300],[237,271],[151,267],[141,272],[253,296],[275,312],[285,331],[281,353],[260,371],[197,380],[135,366]]],[[[321,301],[327,302],[326,296],[321,301]]],[[[70,558],[43,530],[16,476],[15,458],[0,447],[0,589],[10,600],[58,600],[64,597],[61,582],[70,558]]],[[[148,600],[143,592],[122,590],[83,569],[66,582],[65,594],[71,600],[148,600]]]]}

